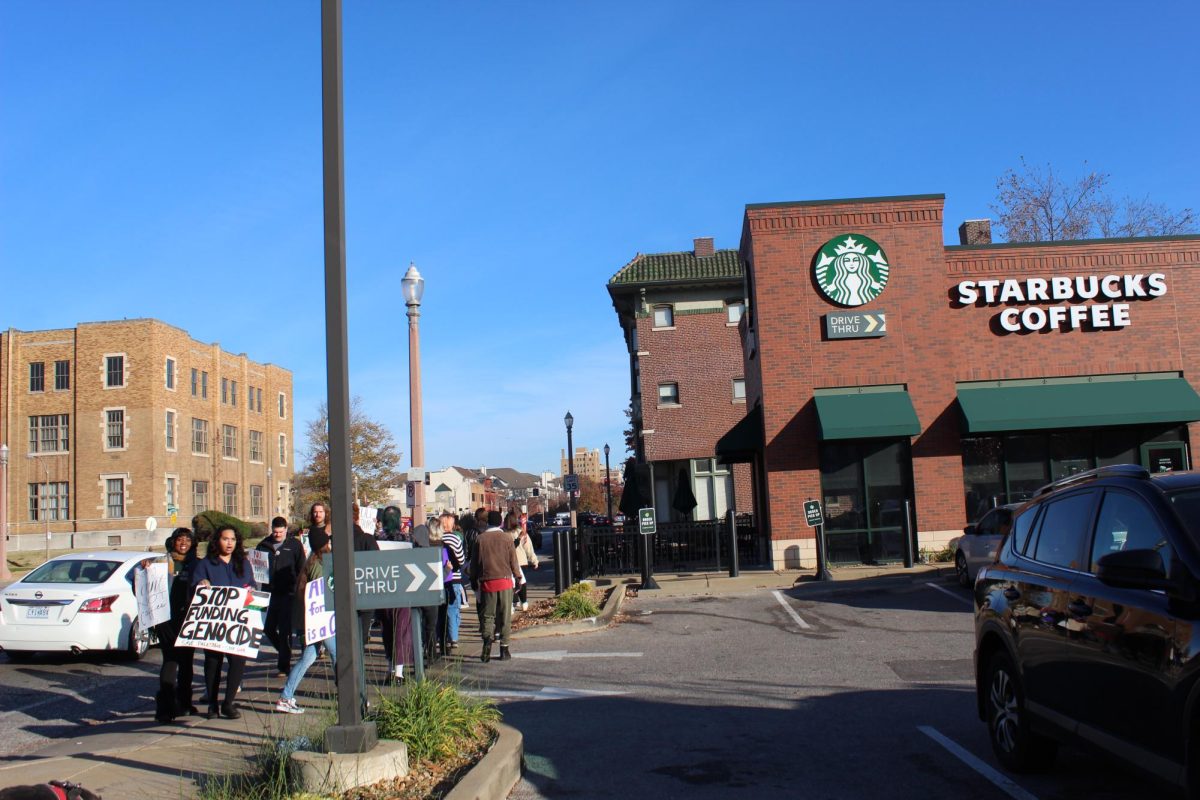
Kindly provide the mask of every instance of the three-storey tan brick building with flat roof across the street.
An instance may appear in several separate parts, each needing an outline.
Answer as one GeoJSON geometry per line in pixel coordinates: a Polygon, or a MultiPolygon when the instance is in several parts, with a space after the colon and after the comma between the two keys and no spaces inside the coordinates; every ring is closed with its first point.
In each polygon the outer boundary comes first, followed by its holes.
{"type": "Polygon", "coordinates": [[[266,521],[288,506],[292,373],[157,319],[10,329],[0,443],[13,549],[44,546],[47,531],[71,547],[78,534],[145,531],[149,518],[188,524],[209,509],[266,521]]]}

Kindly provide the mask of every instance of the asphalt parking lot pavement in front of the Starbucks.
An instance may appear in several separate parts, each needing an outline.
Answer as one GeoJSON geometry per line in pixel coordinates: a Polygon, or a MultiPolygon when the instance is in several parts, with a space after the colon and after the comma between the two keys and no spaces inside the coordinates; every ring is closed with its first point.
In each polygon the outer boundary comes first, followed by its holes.
{"type": "Polygon", "coordinates": [[[626,610],[508,663],[464,662],[526,736],[512,798],[1172,796],[1070,748],[1046,775],[1003,774],[976,714],[970,594],[953,583],[626,610]]]}

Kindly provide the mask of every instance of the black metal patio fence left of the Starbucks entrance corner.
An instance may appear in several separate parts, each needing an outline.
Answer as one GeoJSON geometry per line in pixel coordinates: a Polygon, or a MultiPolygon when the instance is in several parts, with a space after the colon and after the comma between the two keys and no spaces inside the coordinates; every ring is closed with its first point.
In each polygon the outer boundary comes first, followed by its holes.
{"type": "MultiPolygon", "coordinates": [[[[637,521],[626,527],[580,528],[575,545],[577,578],[635,575],[642,570],[637,521]]],[[[730,569],[732,541],[726,519],[658,524],[652,554],[655,572],[720,572],[730,569]]],[[[737,517],[737,552],[742,567],[770,566],[769,542],[754,517],[737,517]]]]}

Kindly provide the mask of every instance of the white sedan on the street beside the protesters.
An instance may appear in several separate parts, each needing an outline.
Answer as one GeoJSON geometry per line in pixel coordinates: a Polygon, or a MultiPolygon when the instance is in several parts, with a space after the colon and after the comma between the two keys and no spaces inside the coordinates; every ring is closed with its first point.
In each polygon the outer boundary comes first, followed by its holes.
{"type": "Polygon", "coordinates": [[[133,569],[152,553],[100,551],[53,558],[0,591],[0,650],[11,660],[38,650],[149,649],[138,625],[133,569]]]}

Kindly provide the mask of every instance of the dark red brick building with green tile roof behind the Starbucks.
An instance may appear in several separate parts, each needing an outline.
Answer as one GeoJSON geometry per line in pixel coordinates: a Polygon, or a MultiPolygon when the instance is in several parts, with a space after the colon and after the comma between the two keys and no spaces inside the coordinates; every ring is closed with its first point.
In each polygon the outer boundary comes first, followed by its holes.
{"type": "Polygon", "coordinates": [[[703,237],[691,251],[638,253],[608,294],[629,353],[636,459],[649,465],[659,521],[683,518],[673,503],[680,485],[696,499],[692,519],[752,511],[749,465],[718,457],[718,440],[746,410],[738,251],[703,237]]]}

